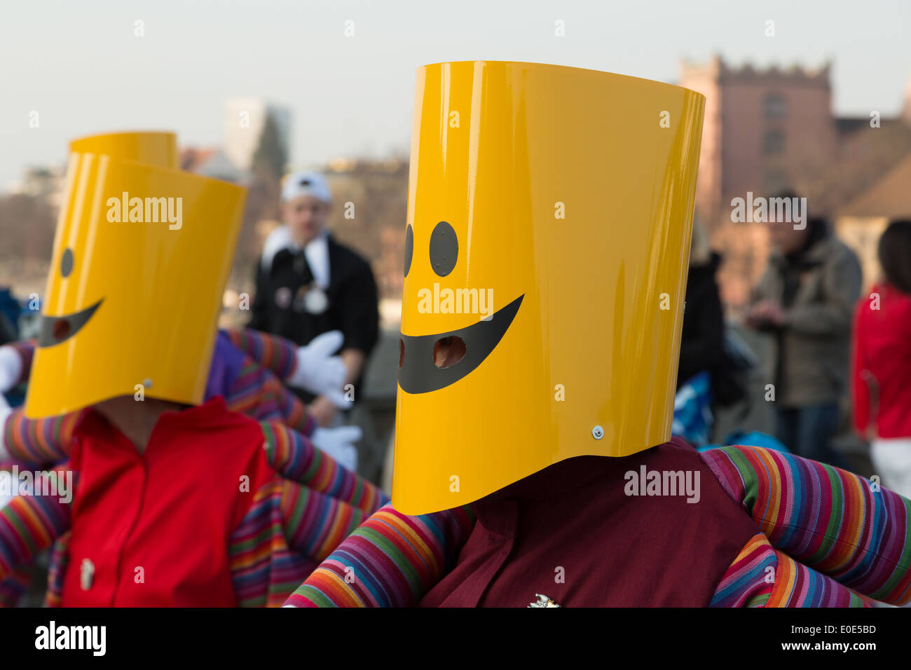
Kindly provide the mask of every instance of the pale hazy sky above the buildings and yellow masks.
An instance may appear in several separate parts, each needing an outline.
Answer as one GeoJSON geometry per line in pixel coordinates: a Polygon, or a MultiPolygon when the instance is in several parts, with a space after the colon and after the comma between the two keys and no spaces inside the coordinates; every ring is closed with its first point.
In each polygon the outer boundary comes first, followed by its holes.
{"type": "Polygon", "coordinates": [[[415,68],[446,60],[672,82],[681,57],[714,52],[733,65],[832,59],[836,113],[895,114],[911,75],[909,19],[911,0],[4,0],[0,190],[26,165],[62,162],[79,135],[174,129],[181,144],[218,143],[222,104],[236,97],[292,108],[297,163],[405,152],[415,68]]]}

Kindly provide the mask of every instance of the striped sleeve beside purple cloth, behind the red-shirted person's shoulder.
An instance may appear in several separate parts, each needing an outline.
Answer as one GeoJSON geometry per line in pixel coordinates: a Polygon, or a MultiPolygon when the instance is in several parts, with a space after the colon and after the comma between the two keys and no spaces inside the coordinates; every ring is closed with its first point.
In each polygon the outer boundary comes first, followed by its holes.
{"type": "Polygon", "coordinates": [[[225,404],[232,412],[258,421],[281,419],[282,423],[304,435],[312,435],[316,428],[316,421],[307,413],[300,398],[250,356],[244,356],[243,366],[225,395],[225,404]]]}

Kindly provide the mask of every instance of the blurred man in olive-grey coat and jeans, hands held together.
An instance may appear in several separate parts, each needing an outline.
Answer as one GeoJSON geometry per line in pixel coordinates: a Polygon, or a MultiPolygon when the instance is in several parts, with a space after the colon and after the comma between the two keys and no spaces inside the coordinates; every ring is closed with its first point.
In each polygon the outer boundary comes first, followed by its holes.
{"type": "Polygon", "coordinates": [[[860,263],[824,219],[804,219],[801,228],[772,218],[773,253],[746,323],[774,338],[775,437],[804,458],[849,469],[831,440],[847,384],[860,263]]]}

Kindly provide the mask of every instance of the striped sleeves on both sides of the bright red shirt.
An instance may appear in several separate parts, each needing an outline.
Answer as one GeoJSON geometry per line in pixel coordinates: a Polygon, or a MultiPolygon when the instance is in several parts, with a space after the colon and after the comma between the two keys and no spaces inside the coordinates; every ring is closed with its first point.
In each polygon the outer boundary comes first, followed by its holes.
{"type": "MultiPolygon", "coordinates": [[[[241,605],[280,605],[322,559],[388,498],[343,469],[281,420],[261,421],[275,479],[254,494],[228,546],[241,605]]],[[[67,465],[56,471],[66,471],[67,465]]],[[[77,474],[77,473],[75,473],[77,474]]],[[[74,481],[77,478],[74,477],[74,481]]],[[[77,486],[77,485],[76,485],[77,486]]],[[[55,539],[46,604],[61,600],[67,566],[69,505],[16,497],[0,510],[0,583],[55,539]]],[[[15,582],[4,583],[13,593],[15,582]]]]}

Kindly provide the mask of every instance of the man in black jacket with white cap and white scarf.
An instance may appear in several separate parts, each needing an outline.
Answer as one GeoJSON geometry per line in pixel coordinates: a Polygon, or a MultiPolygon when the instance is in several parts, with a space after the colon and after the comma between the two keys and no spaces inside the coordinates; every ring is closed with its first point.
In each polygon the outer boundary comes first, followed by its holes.
{"type": "MultiPolygon", "coordinates": [[[[339,330],[346,385],[357,396],[367,356],[379,335],[377,290],[370,265],[336,242],[325,222],[332,193],[318,172],[289,175],[281,189],[285,224],[266,241],[257,269],[249,327],[307,345],[317,335],[339,330]]],[[[321,426],[336,422],[350,403],[301,392],[321,426]]],[[[347,395],[353,399],[352,394],[347,395]]]]}

